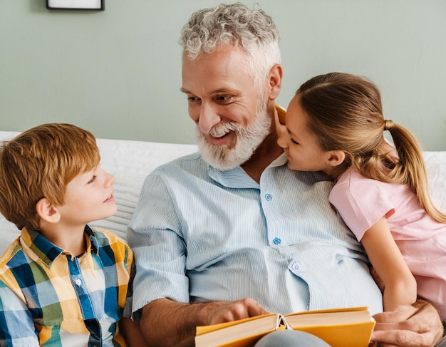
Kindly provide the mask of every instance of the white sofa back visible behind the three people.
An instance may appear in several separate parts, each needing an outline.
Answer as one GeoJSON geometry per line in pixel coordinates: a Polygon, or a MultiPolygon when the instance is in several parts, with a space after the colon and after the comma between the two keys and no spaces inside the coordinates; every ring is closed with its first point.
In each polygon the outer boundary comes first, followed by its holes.
{"type": "MultiPolygon", "coordinates": [[[[10,140],[19,132],[0,131],[0,141],[10,140]]],[[[145,177],[155,167],[197,150],[196,145],[152,143],[133,140],[97,139],[101,166],[115,176],[115,200],[118,211],[107,219],[90,223],[108,229],[125,239],[128,222],[138,202],[145,177]]],[[[424,152],[432,199],[446,211],[446,151],[424,152]]],[[[14,224],[0,214],[0,254],[20,234],[14,224]]]]}

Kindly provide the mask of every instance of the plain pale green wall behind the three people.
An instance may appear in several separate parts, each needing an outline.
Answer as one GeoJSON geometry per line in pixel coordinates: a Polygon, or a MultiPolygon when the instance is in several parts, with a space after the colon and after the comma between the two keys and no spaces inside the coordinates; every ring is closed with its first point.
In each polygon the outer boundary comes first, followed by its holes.
{"type": "MultiPolygon", "coordinates": [[[[180,93],[180,29],[219,0],[105,0],[105,11],[49,11],[0,0],[0,130],[68,122],[99,138],[194,143],[180,93]]],[[[425,150],[446,150],[445,0],[244,0],[281,33],[285,107],[306,79],[370,77],[386,118],[425,150]]]]}

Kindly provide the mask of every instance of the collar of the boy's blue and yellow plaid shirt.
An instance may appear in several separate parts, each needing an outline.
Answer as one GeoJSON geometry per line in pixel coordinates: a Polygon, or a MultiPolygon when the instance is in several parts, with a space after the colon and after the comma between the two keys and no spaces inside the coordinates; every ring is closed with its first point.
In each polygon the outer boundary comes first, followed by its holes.
{"type": "MultiPolygon", "coordinates": [[[[85,225],[84,237],[87,240],[87,252],[91,249],[91,252],[98,254],[98,240],[93,233],[93,230],[85,225]]],[[[51,266],[54,260],[61,254],[70,254],[64,249],[57,247],[56,244],[50,242],[46,237],[43,237],[37,230],[22,229],[21,240],[26,247],[36,254],[36,256],[43,261],[48,267],[51,266]]]]}

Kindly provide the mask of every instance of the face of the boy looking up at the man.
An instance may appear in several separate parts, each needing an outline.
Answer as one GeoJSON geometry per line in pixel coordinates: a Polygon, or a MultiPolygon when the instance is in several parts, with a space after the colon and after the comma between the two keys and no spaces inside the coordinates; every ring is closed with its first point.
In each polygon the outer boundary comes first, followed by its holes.
{"type": "Polygon", "coordinates": [[[61,220],[70,226],[84,226],[115,214],[114,182],[115,177],[99,165],[74,177],[66,187],[63,206],[58,207],[61,220]]]}

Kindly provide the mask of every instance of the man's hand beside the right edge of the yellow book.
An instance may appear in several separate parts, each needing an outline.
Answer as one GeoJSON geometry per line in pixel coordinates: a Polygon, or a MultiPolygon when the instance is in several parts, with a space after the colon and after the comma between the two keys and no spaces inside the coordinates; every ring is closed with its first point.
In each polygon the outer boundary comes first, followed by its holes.
{"type": "Polygon", "coordinates": [[[393,311],[375,314],[372,346],[432,347],[442,338],[443,327],[434,306],[417,300],[413,306],[399,306],[393,311]]]}

